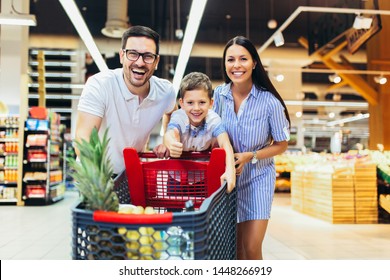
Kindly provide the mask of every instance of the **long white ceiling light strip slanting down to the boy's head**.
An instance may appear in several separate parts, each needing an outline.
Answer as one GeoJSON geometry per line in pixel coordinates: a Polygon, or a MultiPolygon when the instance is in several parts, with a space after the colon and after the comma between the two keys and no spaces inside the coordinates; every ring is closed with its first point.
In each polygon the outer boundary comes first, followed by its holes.
{"type": "Polygon", "coordinates": [[[172,82],[176,93],[179,91],[180,82],[184,76],[184,71],[187,67],[188,59],[194,45],[195,37],[198,33],[199,24],[203,17],[206,4],[207,0],[192,1],[188,23],[184,32],[183,43],[181,45],[179,58],[176,64],[175,76],[173,77],[172,82]]]}

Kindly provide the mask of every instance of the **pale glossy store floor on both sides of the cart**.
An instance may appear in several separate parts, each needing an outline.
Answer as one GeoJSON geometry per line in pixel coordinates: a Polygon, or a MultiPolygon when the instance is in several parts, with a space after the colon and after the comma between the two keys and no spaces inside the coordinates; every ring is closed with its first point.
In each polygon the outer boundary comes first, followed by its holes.
{"type": "MultiPolygon", "coordinates": [[[[71,259],[77,197],[68,191],[49,206],[0,206],[0,259],[71,259]]],[[[330,224],[292,210],[290,194],[277,193],[263,251],[268,260],[390,260],[390,224],[330,224]]]]}

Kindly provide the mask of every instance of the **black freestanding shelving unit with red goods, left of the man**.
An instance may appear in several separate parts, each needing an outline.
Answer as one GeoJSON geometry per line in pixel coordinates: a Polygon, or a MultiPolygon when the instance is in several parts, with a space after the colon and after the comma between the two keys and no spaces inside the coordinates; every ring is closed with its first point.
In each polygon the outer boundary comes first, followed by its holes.
{"type": "Polygon", "coordinates": [[[23,196],[26,204],[51,204],[65,192],[63,139],[59,115],[27,119],[23,156],[23,196]]]}

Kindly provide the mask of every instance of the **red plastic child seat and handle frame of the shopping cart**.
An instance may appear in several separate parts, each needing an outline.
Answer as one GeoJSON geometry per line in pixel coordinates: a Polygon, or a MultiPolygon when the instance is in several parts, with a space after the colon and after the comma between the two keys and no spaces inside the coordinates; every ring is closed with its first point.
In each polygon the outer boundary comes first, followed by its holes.
{"type": "Polygon", "coordinates": [[[225,150],[215,148],[208,161],[195,161],[204,153],[192,153],[190,159],[155,159],[153,153],[138,154],[134,148],[123,150],[131,202],[134,205],[184,208],[192,200],[198,208],[220,186],[225,172],[225,150]]]}

